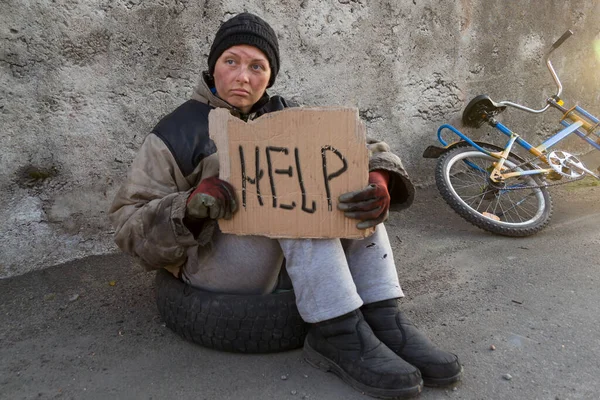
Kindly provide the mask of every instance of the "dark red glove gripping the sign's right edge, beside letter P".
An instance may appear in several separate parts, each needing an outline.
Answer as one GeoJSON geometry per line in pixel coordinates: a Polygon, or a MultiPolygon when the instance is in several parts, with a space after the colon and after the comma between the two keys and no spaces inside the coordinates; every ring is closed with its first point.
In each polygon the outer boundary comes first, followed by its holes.
{"type": "Polygon", "coordinates": [[[390,194],[389,173],[376,170],[369,173],[369,186],[356,192],[344,193],[338,199],[338,209],[348,218],[358,219],[358,229],[371,228],[388,218],[390,194]]]}

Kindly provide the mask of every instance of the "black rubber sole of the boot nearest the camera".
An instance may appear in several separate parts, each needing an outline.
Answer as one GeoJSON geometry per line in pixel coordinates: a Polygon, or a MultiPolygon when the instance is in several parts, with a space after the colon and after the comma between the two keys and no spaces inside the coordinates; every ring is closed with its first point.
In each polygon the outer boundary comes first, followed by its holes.
{"type": "Polygon", "coordinates": [[[423,390],[423,381],[419,385],[405,388],[405,389],[381,389],[376,387],[367,386],[364,383],[360,383],[350,375],[346,373],[339,365],[334,361],[325,357],[321,353],[318,353],[308,344],[308,341],[304,342],[304,360],[315,368],[318,368],[325,372],[333,372],[339,376],[344,382],[350,385],[353,389],[358,390],[361,393],[367,394],[372,397],[380,399],[408,399],[417,396],[423,390]]]}

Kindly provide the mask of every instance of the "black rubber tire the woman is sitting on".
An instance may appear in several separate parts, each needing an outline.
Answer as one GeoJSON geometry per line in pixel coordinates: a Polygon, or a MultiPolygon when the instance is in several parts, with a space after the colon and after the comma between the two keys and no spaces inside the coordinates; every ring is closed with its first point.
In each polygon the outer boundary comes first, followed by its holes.
{"type": "Polygon", "coordinates": [[[196,289],[166,270],[156,274],[156,303],[166,326],[216,350],[271,353],[301,347],[308,331],[293,290],[233,295],[196,289]]]}

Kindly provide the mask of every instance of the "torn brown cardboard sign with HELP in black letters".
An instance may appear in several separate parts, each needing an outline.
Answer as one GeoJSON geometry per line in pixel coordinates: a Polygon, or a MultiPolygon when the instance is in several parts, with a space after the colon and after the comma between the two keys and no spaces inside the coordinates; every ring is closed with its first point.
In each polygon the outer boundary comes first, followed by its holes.
{"type": "Polygon", "coordinates": [[[368,184],[365,128],[355,108],[290,108],[244,122],[226,109],[209,115],[220,178],[236,190],[238,212],[225,233],[273,238],[362,238],[374,229],[337,209],[338,197],[368,184]]]}

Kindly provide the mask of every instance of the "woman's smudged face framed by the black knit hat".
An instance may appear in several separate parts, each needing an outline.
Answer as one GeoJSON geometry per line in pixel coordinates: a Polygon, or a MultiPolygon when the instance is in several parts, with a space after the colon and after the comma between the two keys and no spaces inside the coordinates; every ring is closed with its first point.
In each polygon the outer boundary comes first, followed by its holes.
{"type": "Polygon", "coordinates": [[[271,68],[262,51],[237,45],[221,54],[213,77],[219,97],[246,114],[267,89],[271,68]]]}

